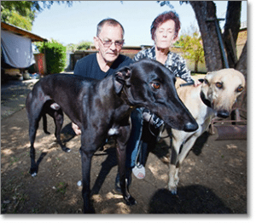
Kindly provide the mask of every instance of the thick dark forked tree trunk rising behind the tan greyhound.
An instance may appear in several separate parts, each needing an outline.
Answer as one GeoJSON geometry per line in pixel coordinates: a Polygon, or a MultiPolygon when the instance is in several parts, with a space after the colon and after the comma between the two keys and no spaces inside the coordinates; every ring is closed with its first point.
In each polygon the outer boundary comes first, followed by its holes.
{"type": "MultiPolygon", "coordinates": [[[[160,3],[160,6],[167,5],[171,9],[173,8],[172,1],[157,1],[157,3],[160,3]]],[[[216,16],[215,3],[213,1],[180,1],[180,3],[189,3],[195,12],[195,18],[201,32],[207,70],[218,71],[219,69],[224,68],[224,59],[220,49],[218,31],[216,28],[216,25],[218,25],[218,18],[216,16]]],[[[232,39],[234,43],[236,43],[241,23],[240,18],[241,1],[228,1],[223,39],[224,48],[228,55],[229,66],[233,68],[236,68],[239,64],[239,60],[246,61],[244,58],[240,58],[238,61],[234,60],[235,56],[233,54],[236,50],[232,49],[231,43],[232,39]]],[[[247,54],[242,54],[242,56],[247,57],[247,54]]],[[[245,73],[243,74],[246,75],[245,73]]]]}

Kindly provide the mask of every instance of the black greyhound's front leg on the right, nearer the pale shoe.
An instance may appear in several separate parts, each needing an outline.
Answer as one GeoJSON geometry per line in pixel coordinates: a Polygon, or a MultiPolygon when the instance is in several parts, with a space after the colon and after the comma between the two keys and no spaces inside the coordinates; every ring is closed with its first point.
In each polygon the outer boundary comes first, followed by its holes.
{"type": "Polygon", "coordinates": [[[118,158],[118,164],[119,164],[119,182],[120,182],[121,191],[123,193],[126,204],[134,205],[136,204],[136,200],[133,197],[131,197],[131,194],[128,188],[128,180],[125,179],[126,177],[126,168],[125,168],[126,145],[130,136],[129,133],[130,133],[130,126],[125,126],[120,128],[119,136],[117,137],[116,152],[117,152],[117,158],[118,158]]]}

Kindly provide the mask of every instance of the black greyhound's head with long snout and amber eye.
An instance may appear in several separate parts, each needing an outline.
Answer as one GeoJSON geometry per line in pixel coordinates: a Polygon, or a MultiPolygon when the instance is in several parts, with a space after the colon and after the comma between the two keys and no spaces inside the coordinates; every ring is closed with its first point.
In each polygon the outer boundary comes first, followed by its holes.
{"type": "Polygon", "coordinates": [[[173,129],[195,131],[194,117],[179,99],[176,78],[155,60],[140,60],[113,76],[114,89],[130,106],[143,106],[173,129]]]}

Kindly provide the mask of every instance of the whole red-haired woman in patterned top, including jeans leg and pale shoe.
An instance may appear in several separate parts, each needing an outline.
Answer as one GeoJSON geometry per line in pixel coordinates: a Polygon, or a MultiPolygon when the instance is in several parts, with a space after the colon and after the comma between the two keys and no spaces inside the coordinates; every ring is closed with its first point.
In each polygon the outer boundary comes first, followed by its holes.
{"type": "MultiPolygon", "coordinates": [[[[181,77],[187,83],[197,86],[200,82],[192,79],[183,57],[170,51],[172,44],[177,41],[179,30],[180,20],[176,13],[168,11],[160,14],[154,19],[150,29],[154,47],[143,49],[135,55],[133,60],[137,61],[143,58],[157,60],[172,71],[176,77],[181,77]]],[[[132,131],[127,145],[126,161],[131,163],[132,171],[137,178],[143,179],[148,151],[154,149],[157,135],[160,133],[160,126],[164,122],[147,109],[140,108],[132,112],[131,123],[132,131]],[[131,154],[129,154],[130,152],[131,154]]]]}

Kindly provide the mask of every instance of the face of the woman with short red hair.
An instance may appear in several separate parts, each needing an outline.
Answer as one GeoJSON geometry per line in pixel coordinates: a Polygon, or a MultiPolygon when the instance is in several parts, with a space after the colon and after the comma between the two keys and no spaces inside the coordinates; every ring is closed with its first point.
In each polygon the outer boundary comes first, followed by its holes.
{"type": "Polygon", "coordinates": [[[158,48],[166,49],[176,42],[175,36],[175,22],[173,20],[166,20],[157,27],[154,36],[154,43],[158,48]]]}

